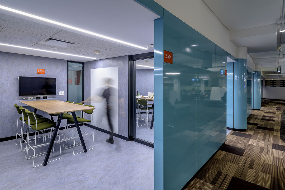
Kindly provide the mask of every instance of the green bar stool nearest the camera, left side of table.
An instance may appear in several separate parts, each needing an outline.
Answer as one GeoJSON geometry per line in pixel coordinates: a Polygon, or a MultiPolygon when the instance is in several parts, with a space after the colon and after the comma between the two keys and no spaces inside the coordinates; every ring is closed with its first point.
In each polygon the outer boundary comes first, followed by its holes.
{"type": "MultiPolygon", "coordinates": [[[[28,115],[28,139],[27,139],[27,148],[26,148],[26,158],[27,159],[33,158],[33,167],[37,167],[37,166],[40,166],[42,164],[39,164],[39,165],[35,166],[35,164],[34,164],[35,157],[46,155],[46,152],[41,152],[41,153],[36,154],[36,148],[42,147],[42,146],[45,146],[45,145],[49,144],[49,142],[46,141],[46,137],[48,137],[50,139],[52,138],[52,130],[54,130],[54,128],[56,127],[56,122],[51,121],[48,118],[36,118],[36,115],[34,114],[34,112],[28,111],[27,109],[25,110],[25,113],[27,113],[27,115],[28,115]],[[33,135],[31,135],[31,129],[34,130],[35,132],[38,132],[38,136],[39,136],[39,132],[42,132],[42,139],[43,139],[42,142],[43,143],[36,144],[36,141],[37,141],[36,135],[37,135],[37,133],[35,133],[34,138],[30,138],[31,136],[33,136],[33,135]],[[46,134],[46,129],[48,129],[48,134],[46,134]],[[34,144],[33,145],[30,144],[30,140],[32,140],[32,142],[34,140],[34,144]],[[33,156],[28,156],[28,150],[29,149],[34,151],[33,156]]],[[[60,136],[59,136],[59,133],[57,134],[57,137],[59,138],[59,140],[57,140],[57,138],[56,138],[56,140],[54,142],[59,144],[60,158],[61,158],[61,147],[60,147],[60,136]]],[[[40,139],[40,137],[38,139],[40,139]]],[[[58,160],[60,158],[51,160],[49,162],[58,160]]]]}

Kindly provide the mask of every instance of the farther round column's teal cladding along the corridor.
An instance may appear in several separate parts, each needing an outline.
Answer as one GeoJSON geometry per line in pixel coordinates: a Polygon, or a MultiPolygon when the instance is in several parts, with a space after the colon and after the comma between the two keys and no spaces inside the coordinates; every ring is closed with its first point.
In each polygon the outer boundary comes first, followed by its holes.
{"type": "Polygon", "coordinates": [[[261,72],[253,73],[253,109],[261,108],[261,72]]]}

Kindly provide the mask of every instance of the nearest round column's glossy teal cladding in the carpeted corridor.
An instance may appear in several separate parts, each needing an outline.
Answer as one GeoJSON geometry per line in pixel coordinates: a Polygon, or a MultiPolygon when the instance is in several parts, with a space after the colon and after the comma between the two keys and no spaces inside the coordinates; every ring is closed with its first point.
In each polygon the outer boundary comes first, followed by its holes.
{"type": "Polygon", "coordinates": [[[234,117],[235,129],[247,129],[247,59],[234,62],[234,117]]]}

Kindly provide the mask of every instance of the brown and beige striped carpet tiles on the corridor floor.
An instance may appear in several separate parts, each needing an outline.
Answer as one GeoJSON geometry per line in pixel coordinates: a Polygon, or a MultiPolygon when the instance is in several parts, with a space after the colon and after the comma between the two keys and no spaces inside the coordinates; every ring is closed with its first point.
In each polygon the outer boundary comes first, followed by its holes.
{"type": "Polygon", "coordinates": [[[247,131],[231,131],[185,190],[285,190],[285,143],[280,139],[283,111],[285,101],[265,99],[261,109],[248,117],[247,131]]]}

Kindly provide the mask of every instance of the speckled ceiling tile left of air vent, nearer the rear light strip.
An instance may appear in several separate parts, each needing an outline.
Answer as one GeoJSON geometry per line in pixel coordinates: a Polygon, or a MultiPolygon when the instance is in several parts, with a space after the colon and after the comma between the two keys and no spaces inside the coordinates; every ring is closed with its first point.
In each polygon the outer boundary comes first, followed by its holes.
{"type": "Polygon", "coordinates": [[[37,34],[31,34],[31,33],[23,32],[23,31],[19,31],[19,30],[14,30],[14,29],[10,29],[10,28],[5,28],[5,27],[1,30],[0,36],[6,36],[9,38],[16,38],[16,39],[20,39],[20,40],[27,40],[27,41],[31,41],[31,42],[39,42],[39,41],[43,40],[44,38],[46,38],[45,36],[40,36],[37,34]]]}

